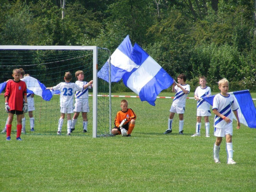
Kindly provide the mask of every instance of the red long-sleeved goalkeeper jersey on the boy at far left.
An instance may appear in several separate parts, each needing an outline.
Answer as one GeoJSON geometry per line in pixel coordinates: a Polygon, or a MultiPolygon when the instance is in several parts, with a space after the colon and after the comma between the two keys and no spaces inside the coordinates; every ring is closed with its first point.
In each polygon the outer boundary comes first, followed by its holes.
{"type": "Polygon", "coordinates": [[[10,110],[22,111],[24,95],[27,94],[27,87],[24,81],[8,81],[5,89],[5,97],[8,96],[10,110]]]}

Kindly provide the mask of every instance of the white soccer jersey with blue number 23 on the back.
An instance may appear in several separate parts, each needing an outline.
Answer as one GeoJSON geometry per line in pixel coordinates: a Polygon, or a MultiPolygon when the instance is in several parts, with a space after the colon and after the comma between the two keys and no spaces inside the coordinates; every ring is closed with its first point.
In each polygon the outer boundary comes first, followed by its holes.
{"type": "Polygon", "coordinates": [[[73,108],[73,97],[75,91],[82,91],[83,87],[79,87],[76,83],[62,82],[52,88],[54,91],[60,91],[59,103],[60,107],[73,108]]]}

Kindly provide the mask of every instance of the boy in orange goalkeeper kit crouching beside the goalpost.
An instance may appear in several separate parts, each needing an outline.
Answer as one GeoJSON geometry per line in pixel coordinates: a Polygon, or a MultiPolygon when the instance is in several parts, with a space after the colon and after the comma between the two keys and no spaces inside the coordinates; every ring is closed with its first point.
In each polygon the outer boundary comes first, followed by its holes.
{"type": "Polygon", "coordinates": [[[121,110],[117,112],[115,127],[111,130],[113,135],[130,137],[135,127],[136,115],[132,109],[128,109],[127,100],[121,100],[121,110]]]}

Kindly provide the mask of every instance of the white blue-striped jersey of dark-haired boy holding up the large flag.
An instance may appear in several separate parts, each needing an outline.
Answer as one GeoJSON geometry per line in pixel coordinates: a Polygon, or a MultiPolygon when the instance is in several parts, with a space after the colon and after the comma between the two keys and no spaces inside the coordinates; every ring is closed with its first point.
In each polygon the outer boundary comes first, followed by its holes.
{"type": "MultiPolygon", "coordinates": [[[[188,91],[187,94],[190,93],[190,85],[186,84],[186,85],[181,85],[185,90],[188,91]]],[[[182,106],[185,107],[186,104],[186,100],[187,100],[187,94],[185,94],[181,88],[179,88],[177,85],[175,85],[175,97],[173,99],[173,106],[182,106]]]]}

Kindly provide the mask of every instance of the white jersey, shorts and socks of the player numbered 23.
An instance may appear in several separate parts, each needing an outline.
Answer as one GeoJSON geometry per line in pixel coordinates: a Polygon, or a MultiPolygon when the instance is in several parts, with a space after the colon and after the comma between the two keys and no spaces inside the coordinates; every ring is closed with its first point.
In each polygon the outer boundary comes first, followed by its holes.
{"type": "MultiPolygon", "coordinates": [[[[83,91],[83,87],[78,86],[76,83],[66,83],[62,82],[58,85],[52,87],[54,91],[60,91],[59,103],[60,103],[60,112],[61,113],[73,113],[73,95],[76,91],[83,91]]],[[[58,123],[58,132],[57,134],[60,135],[62,130],[64,119],[60,118],[58,123]]],[[[71,124],[72,120],[67,122],[67,131],[68,134],[71,132],[71,124]]]]}

